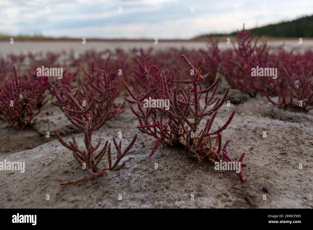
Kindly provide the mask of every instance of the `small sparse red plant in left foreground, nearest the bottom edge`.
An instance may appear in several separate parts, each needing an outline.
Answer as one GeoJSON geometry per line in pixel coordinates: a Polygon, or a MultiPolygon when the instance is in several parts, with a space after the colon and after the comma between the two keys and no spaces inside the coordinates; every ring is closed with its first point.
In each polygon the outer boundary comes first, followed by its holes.
{"type": "MultiPolygon", "coordinates": [[[[88,170],[89,173],[89,179],[96,178],[100,176],[105,170],[108,171],[118,171],[121,168],[123,168],[126,164],[124,161],[122,164],[119,165],[121,159],[126,155],[126,153],[131,149],[131,147],[134,145],[137,134],[135,134],[133,140],[131,143],[126,147],[126,149],[122,152],[122,141],[120,141],[119,144],[117,144],[115,138],[113,137],[113,143],[115,146],[115,149],[117,151],[117,156],[116,160],[112,165],[112,156],[111,156],[111,143],[108,145],[108,141],[105,142],[105,145],[100,151],[97,151],[98,148],[100,147],[101,144],[101,138],[99,138],[99,141],[97,144],[94,146],[92,144],[92,133],[96,130],[99,130],[105,122],[109,119],[110,117],[110,111],[106,114],[105,118],[97,125],[93,125],[93,112],[92,109],[95,106],[96,103],[96,98],[94,97],[90,103],[90,105],[86,105],[86,108],[83,109],[82,106],[79,105],[79,103],[74,99],[74,97],[69,93],[65,92],[67,99],[70,101],[70,104],[72,105],[71,108],[75,109],[70,109],[67,107],[63,107],[64,115],[69,119],[69,121],[79,128],[81,131],[84,132],[85,138],[84,138],[84,143],[85,143],[85,149],[81,149],[78,147],[75,135],[72,134],[72,141],[69,141],[69,143],[66,143],[61,136],[59,135],[58,131],[54,129],[54,133],[56,137],[58,138],[59,142],[69,150],[73,152],[73,156],[76,159],[76,161],[83,166],[83,168],[88,170]],[[70,114],[70,115],[69,115],[70,114]],[[80,118],[78,118],[80,117],[80,118]],[[105,155],[107,152],[108,155],[108,167],[103,167],[103,168],[97,168],[98,164],[100,163],[102,157],[105,155]]],[[[87,174],[85,174],[86,176],[87,174]]],[[[78,180],[84,180],[85,176],[78,180]]],[[[63,178],[57,179],[59,181],[62,181],[62,184],[66,183],[75,183],[78,182],[76,180],[74,181],[66,181],[63,178]]]]}

